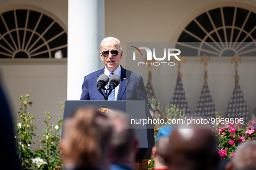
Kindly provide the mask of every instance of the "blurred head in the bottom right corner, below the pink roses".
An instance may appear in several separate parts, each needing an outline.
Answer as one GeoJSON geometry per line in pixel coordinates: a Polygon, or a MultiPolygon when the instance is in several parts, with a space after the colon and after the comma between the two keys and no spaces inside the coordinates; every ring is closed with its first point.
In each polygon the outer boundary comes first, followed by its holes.
{"type": "Polygon", "coordinates": [[[226,170],[256,170],[256,141],[239,145],[226,170]]]}

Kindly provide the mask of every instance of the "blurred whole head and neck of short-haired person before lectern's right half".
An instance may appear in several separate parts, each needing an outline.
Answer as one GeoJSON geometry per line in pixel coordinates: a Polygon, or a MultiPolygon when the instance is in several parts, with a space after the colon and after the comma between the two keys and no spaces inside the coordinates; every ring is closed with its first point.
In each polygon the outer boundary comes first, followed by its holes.
{"type": "Polygon", "coordinates": [[[115,147],[115,157],[110,170],[122,169],[123,167],[117,164],[126,164],[133,169],[134,159],[137,153],[138,140],[136,139],[135,130],[127,124],[126,114],[115,110],[114,113],[109,113],[107,116],[113,125],[112,144],[115,147]]]}

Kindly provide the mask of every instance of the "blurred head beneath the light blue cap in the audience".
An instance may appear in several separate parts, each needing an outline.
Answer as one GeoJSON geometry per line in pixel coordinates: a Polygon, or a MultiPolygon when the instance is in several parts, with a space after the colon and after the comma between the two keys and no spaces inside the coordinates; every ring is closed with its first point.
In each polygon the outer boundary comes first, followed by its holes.
{"type": "Polygon", "coordinates": [[[169,137],[161,136],[152,148],[154,158],[154,169],[168,169],[170,159],[169,137]]]}

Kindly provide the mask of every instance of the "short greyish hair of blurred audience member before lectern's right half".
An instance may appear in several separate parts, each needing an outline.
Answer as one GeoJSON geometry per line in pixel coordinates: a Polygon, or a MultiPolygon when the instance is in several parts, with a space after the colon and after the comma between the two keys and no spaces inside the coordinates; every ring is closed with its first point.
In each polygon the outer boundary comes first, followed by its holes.
{"type": "Polygon", "coordinates": [[[108,113],[107,116],[109,116],[114,129],[112,144],[116,147],[116,157],[122,159],[130,154],[135,147],[135,130],[129,123],[126,123],[125,113],[114,110],[114,113],[108,113]]]}

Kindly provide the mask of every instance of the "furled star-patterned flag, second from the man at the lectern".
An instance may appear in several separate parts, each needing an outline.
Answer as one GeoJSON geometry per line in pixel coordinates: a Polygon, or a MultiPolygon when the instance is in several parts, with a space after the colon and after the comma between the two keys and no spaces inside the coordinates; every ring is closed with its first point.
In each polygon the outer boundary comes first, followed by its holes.
{"type": "Polygon", "coordinates": [[[180,72],[178,72],[177,84],[175,87],[175,92],[173,94],[172,100],[170,102],[170,107],[172,107],[172,104],[178,107],[180,110],[183,110],[183,108],[185,108],[186,116],[191,115],[190,109],[188,107],[188,100],[186,98],[185,90],[183,88],[180,72]]]}

